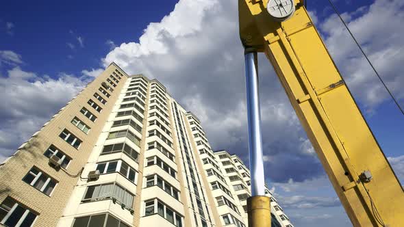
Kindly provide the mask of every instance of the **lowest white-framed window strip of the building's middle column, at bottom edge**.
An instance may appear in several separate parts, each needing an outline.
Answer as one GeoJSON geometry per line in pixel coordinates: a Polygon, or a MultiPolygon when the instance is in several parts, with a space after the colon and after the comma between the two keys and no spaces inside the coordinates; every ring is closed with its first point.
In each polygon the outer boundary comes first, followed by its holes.
{"type": "Polygon", "coordinates": [[[182,227],[183,217],[157,198],[144,202],[144,207],[144,216],[153,215],[157,212],[158,215],[171,222],[171,224],[182,227]]]}

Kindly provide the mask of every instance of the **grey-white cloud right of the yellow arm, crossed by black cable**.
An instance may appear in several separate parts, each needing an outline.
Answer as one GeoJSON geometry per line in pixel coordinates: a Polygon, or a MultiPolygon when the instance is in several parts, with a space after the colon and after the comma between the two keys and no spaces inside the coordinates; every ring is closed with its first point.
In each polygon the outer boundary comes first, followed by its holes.
{"type": "MultiPolygon", "coordinates": [[[[343,14],[370,61],[398,98],[404,98],[404,77],[398,73],[404,70],[403,6],[404,2],[399,0],[377,0],[370,6],[343,14]]],[[[327,18],[320,31],[353,94],[368,111],[390,98],[338,16],[327,18]]]]}

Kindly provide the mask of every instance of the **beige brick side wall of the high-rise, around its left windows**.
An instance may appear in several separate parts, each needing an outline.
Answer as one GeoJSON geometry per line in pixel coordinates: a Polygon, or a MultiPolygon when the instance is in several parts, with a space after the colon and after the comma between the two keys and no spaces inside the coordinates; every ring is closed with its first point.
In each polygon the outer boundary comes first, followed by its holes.
{"type": "MultiPolygon", "coordinates": [[[[113,88],[114,92],[110,92],[110,98],[104,96],[104,98],[108,100],[106,105],[100,103],[97,98],[93,96],[95,92],[103,96],[103,94],[99,92],[101,83],[106,82],[106,80],[110,78],[110,75],[116,72],[115,70],[124,73],[115,64],[108,66],[99,77],[81,90],[81,92],[65,107],[60,109],[49,122],[45,123],[40,131],[34,133],[28,142],[21,145],[16,153],[6,159],[1,165],[0,201],[10,196],[19,204],[31,209],[31,211],[37,215],[35,226],[55,226],[62,215],[66,202],[68,202],[68,198],[77,182],[77,178],[68,176],[66,172],[75,175],[81,171],[94,144],[97,142],[101,129],[103,128],[103,122],[108,118],[114,101],[118,98],[118,92],[123,83],[125,83],[126,76],[121,76],[120,83],[117,84],[116,88],[113,88]],[[89,99],[92,99],[94,103],[97,103],[97,105],[103,108],[101,113],[98,113],[87,104],[89,99]],[[94,115],[97,115],[96,122],[90,121],[86,116],[81,114],[80,110],[82,107],[86,107],[86,109],[91,111],[94,115]],[[75,117],[90,126],[91,129],[88,134],[79,130],[71,123],[71,120],[75,117]],[[73,148],[73,146],[59,137],[64,129],[67,129],[83,141],[78,149],[73,148]],[[71,162],[66,172],[55,170],[55,168],[49,166],[49,158],[43,155],[51,144],[62,150],[68,157],[71,157],[71,162]],[[50,196],[47,196],[45,193],[42,193],[35,187],[22,181],[25,175],[27,175],[29,170],[34,166],[57,182],[50,196]]],[[[110,83],[107,84],[110,85],[110,83]]]]}

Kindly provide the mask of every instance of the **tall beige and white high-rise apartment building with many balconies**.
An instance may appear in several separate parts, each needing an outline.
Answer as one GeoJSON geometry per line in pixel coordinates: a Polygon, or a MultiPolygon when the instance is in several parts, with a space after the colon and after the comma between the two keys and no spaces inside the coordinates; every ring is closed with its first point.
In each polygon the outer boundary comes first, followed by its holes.
{"type": "Polygon", "coordinates": [[[0,166],[0,226],[244,227],[248,196],[237,156],[213,152],[159,81],[114,63],[0,166]]]}

